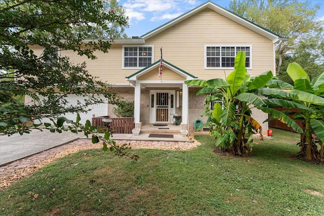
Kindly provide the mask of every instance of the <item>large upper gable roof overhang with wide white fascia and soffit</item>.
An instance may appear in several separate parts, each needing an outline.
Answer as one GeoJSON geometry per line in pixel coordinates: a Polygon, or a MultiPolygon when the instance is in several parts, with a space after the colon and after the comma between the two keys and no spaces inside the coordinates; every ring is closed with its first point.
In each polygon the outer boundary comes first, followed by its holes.
{"type": "Polygon", "coordinates": [[[200,11],[203,11],[204,9],[206,8],[209,8],[225,17],[227,17],[228,19],[242,25],[242,26],[245,26],[249,29],[251,29],[252,31],[255,31],[261,35],[263,35],[264,37],[268,38],[268,39],[271,39],[273,43],[276,43],[276,42],[279,42],[279,40],[287,40],[288,38],[287,37],[281,37],[280,35],[276,34],[276,33],[273,33],[257,24],[255,24],[254,22],[248,20],[248,19],[245,19],[237,14],[234,14],[233,12],[211,2],[211,1],[208,1],[204,4],[201,4],[200,6],[188,11],[187,13],[167,22],[166,24],[164,25],[161,25],[149,32],[147,32],[146,34],[143,34],[142,36],[140,36],[140,38],[144,38],[144,40],[154,36],[155,34],[158,34],[159,32],[161,31],[164,31],[165,29],[167,28],[170,28],[171,26],[187,19],[188,17],[191,17],[193,16],[194,14],[200,12],[200,11]]]}

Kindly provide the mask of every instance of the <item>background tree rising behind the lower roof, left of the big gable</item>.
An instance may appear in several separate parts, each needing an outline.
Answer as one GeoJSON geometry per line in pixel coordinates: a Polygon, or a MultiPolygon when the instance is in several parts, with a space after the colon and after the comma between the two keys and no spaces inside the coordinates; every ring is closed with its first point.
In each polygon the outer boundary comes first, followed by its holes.
{"type": "MultiPolygon", "coordinates": [[[[113,12],[119,16],[124,16],[126,10],[122,6],[118,5],[116,0],[102,0],[103,2],[103,12],[113,12]]],[[[126,21],[128,22],[129,18],[126,17],[126,21]]],[[[114,20],[106,20],[106,26],[99,26],[95,23],[87,23],[87,24],[78,24],[73,27],[75,33],[83,34],[85,38],[127,38],[125,33],[125,27],[128,25],[121,25],[120,23],[114,20]]]]}

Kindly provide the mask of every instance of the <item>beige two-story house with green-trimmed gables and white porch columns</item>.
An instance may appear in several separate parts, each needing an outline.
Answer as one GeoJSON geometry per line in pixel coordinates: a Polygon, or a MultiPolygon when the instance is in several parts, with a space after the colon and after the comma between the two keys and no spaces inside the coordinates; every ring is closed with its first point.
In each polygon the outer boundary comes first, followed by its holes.
{"type": "MultiPolygon", "coordinates": [[[[205,96],[184,84],[190,79],[225,78],[234,69],[237,52],[247,53],[246,67],[251,76],[267,70],[275,74],[275,46],[285,40],[279,35],[234,13],[206,2],[193,10],[130,39],[115,39],[109,52],[96,53],[96,60],[62,51],[73,63],[87,63],[88,71],[112,83],[120,96],[135,102],[135,128],[146,124],[173,123],[181,115],[182,131],[194,129],[203,113],[205,96]],[[160,48],[163,48],[162,74],[159,77],[160,48]]],[[[71,96],[71,102],[76,100],[71,96]]],[[[112,105],[98,105],[82,119],[114,116],[112,105]]],[[[267,114],[253,113],[261,123],[267,114]]],[[[267,123],[262,124],[267,132],[267,123]]]]}

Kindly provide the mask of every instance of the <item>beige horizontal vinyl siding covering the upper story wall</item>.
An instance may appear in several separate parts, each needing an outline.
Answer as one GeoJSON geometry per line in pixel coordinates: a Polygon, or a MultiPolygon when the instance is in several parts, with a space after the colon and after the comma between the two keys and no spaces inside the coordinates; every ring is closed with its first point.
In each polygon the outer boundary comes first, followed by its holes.
{"type": "MultiPolygon", "coordinates": [[[[205,9],[186,20],[147,39],[145,45],[154,46],[153,62],[160,58],[160,47],[163,47],[163,59],[182,70],[197,76],[198,79],[224,78],[223,69],[205,68],[206,45],[242,45],[252,48],[251,76],[258,75],[274,68],[274,51],[270,39],[210,10],[205,9]]],[[[129,46],[129,45],[128,45],[129,46]]],[[[136,44],[130,46],[137,46],[136,44]]],[[[139,46],[139,45],[138,45],[139,46]]],[[[72,63],[87,63],[88,71],[103,81],[127,84],[125,77],[139,71],[138,69],[122,69],[123,45],[112,44],[108,53],[95,52],[96,60],[80,57],[73,51],[61,51],[61,56],[68,56],[72,63]]],[[[157,69],[156,69],[157,70],[157,69]]],[[[233,69],[226,69],[229,74],[233,69]]],[[[176,75],[167,75],[165,67],[163,79],[168,80],[176,75]]],[[[157,74],[157,71],[156,71],[157,74]]],[[[145,74],[146,75],[146,74],[145,74]]],[[[142,76],[156,80],[157,75],[142,76]]]]}

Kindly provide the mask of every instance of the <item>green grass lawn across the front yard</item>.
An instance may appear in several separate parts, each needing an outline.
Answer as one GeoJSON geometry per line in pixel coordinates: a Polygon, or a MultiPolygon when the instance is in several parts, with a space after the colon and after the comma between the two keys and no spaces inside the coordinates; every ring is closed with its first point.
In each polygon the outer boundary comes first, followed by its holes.
{"type": "Polygon", "coordinates": [[[292,157],[298,138],[273,129],[247,158],[205,135],[192,151],[132,150],[139,161],[82,151],[0,191],[0,215],[324,215],[305,191],[324,193],[324,167],[292,157]]]}

